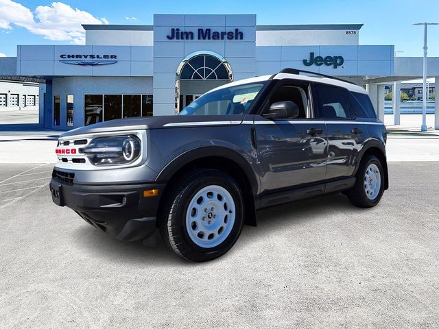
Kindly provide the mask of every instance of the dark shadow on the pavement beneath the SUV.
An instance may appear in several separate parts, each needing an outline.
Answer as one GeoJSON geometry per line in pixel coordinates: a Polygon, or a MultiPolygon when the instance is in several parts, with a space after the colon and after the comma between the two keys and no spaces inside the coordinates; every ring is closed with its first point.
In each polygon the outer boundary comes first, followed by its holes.
{"type": "MultiPolygon", "coordinates": [[[[285,226],[299,226],[306,221],[318,221],[331,214],[355,211],[342,194],[305,199],[298,202],[266,208],[257,212],[257,227],[244,226],[238,243],[245,245],[261,239],[271,231],[285,229],[285,226]]],[[[115,263],[135,263],[143,265],[191,265],[171,252],[156,231],[156,246],[147,247],[142,241],[119,241],[84,223],[75,229],[73,243],[85,249],[93,257],[107,259],[115,263]]]]}

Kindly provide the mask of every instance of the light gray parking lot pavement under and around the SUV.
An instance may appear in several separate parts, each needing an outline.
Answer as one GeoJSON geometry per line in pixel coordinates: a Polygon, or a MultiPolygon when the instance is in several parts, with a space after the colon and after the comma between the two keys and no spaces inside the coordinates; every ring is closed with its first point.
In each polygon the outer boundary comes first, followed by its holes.
{"type": "Polygon", "coordinates": [[[379,206],[262,210],[200,264],[55,206],[53,164],[0,164],[0,328],[437,328],[439,162],[389,166],[379,206]]]}

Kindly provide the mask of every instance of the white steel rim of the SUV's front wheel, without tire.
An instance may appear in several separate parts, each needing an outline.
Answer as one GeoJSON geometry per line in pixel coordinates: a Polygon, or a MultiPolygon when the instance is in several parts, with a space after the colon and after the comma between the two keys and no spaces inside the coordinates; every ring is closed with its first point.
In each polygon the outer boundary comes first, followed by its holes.
{"type": "Polygon", "coordinates": [[[195,193],[186,212],[189,238],[202,248],[213,248],[223,243],[235,223],[236,208],[226,188],[209,185],[195,193]]]}

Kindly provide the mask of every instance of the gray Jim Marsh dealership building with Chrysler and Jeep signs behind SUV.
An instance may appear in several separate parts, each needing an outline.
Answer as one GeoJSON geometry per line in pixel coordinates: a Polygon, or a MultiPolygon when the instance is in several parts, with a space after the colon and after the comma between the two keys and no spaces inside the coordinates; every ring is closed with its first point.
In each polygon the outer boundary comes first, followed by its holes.
{"type": "MultiPolygon", "coordinates": [[[[155,14],[154,25],[83,25],[85,45],[18,45],[16,58],[0,58],[0,79],[38,82],[41,127],[67,130],[175,115],[216,86],[287,67],[364,86],[383,119],[385,84],[399,90],[402,80],[422,77],[422,58],[395,57],[393,45],[359,45],[362,24],[256,22],[254,14],[155,14]]],[[[438,82],[439,58],[427,65],[438,82]]]]}

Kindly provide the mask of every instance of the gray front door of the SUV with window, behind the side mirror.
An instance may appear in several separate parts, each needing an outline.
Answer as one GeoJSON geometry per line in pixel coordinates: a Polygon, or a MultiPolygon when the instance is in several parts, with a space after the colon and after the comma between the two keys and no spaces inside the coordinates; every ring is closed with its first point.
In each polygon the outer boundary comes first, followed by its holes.
{"type": "Polygon", "coordinates": [[[311,87],[303,82],[276,86],[261,114],[254,116],[262,191],[320,182],[326,174],[326,125],[313,119],[311,87]],[[270,105],[293,101],[295,118],[265,119],[270,105]]]}

